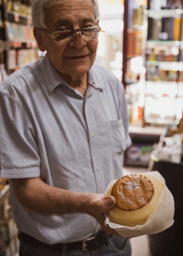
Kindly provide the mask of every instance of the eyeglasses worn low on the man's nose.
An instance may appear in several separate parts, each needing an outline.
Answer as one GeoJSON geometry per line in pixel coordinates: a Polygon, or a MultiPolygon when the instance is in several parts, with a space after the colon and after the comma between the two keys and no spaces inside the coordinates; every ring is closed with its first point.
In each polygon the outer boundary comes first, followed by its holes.
{"type": "Polygon", "coordinates": [[[77,28],[76,30],[56,31],[53,34],[50,34],[48,31],[46,31],[46,33],[49,34],[49,36],[52,37],[53,40],[58,44],[68,44],[73,40],[73,37],[78,32],[81,32],[83,40],[90,41],[97,38],[99,32],[105,31],[101,30],[98,25],[89,28],[77,28]]]}

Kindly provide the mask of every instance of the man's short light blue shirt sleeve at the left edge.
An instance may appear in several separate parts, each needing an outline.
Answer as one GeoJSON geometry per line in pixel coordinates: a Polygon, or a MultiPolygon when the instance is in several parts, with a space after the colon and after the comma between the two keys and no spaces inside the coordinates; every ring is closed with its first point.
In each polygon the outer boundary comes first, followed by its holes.
{"type": "Polygon", "coordinates": [[[40,157],[33,120],[12,96],[0,94],[0,176],[40,175],[40,157]]]}

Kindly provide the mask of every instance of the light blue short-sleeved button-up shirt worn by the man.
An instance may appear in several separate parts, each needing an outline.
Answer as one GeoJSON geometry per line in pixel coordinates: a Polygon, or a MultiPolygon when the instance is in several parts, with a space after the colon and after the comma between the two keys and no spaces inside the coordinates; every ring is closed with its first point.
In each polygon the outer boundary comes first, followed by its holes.
{"type": "MultiPolygon", "coordinates": [[[[47,57],[11,74],[0,85],[0,175],[41,176],[51,186],[104,193],[121,178],[130,146],[123,85],[93,65],[85,97],[71,88],[47,57]]],[[[11,186],[20,231],[48,244],[85,239],[101,227],[87,214],[26,211],[11,186]]]]}

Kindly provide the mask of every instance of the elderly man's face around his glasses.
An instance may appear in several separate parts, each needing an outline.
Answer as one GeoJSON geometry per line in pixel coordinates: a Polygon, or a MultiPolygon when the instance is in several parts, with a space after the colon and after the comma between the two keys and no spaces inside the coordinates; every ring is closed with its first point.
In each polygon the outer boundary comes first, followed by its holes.
{"type": "MultiPolygon", "coordinates": [[[[53,33],[61,29],[96,25],[94,7],[91,0],[68,0],[46,10],[46,26],[53,33]]],[[[58,44],[47,33],[41,38],[42,47],[55,68],[64,77],[77,77],[85,74],[95,60],[98,39],[85,41],[77,33],[68,44],[58,44]]]]}

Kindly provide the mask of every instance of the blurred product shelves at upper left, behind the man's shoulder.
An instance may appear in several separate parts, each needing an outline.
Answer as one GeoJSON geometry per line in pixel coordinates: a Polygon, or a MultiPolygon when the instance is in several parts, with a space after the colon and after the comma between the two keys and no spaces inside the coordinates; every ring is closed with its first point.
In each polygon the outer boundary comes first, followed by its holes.
{"type": "Polygon", "coordinates": [[[5,65],[7,74],[11,74],[39,57],[33,35],[31,2],[3,1],[0,20],[0,63],[5,65]]]}

